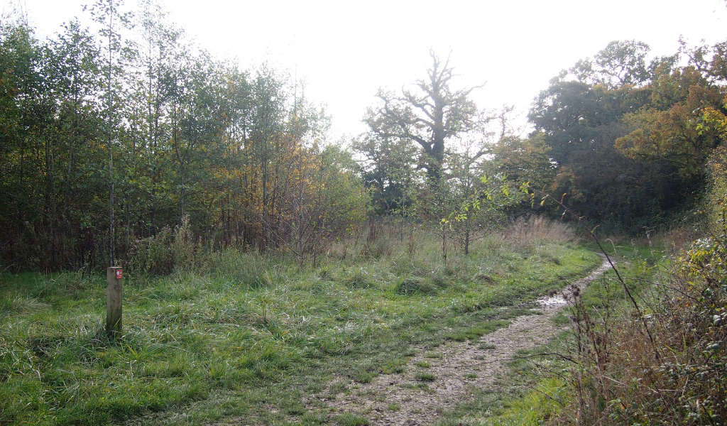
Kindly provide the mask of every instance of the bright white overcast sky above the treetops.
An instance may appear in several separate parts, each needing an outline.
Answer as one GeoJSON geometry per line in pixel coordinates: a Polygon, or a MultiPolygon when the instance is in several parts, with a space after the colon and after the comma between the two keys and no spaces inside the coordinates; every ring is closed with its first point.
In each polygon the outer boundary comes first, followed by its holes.
{"type": "MultiPolygon", "coordinates": [[[[11,0],[3,1],[7,10],[11,0]]],[[[38,36],[73,17],[89,22],[93,0],[12,0],[38,36]]],[[[136,0],[125,0],[133,9],[136,0]]],[[[263,61],[306,82],[313,103],[333,118],[330,137],[366,130],[361,122],[377,89],[401,90],[426,76],[430,49],[450,55],[454,89],[480,86],[481,108],[512,105],[526,113],[559,71],[593,57],[609,41],[643,41],[652,55],[689,44],[727,41],[727,0],[160,0],[170,20],[217,57],[241,68],[263,61]]]]}

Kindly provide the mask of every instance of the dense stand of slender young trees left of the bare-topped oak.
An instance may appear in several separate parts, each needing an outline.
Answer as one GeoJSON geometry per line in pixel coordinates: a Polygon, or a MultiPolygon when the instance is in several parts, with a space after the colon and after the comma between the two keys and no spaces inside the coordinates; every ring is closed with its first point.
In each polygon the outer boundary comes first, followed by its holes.
{"type": "Polygon", "coordinates": [[[120,0],[99,0],[100,32],[72,22],[44,41],[0,21],[0,261],[124,265],[182,222],[178,244],[315,262],[368,202],[348,153],[319,148],[325,110],[285,73],[194,48],[153,1],[132,27],[120,0]]]}

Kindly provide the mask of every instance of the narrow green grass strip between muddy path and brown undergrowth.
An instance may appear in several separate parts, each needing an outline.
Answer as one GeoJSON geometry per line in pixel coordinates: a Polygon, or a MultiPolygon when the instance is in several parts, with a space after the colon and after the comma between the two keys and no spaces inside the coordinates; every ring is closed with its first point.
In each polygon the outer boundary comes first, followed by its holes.
{"type": "MultiPolygon", "coordinates": [[[[590,244],[586,246],[596,249],[590,244]]],[[[658,289],[654,289],[650,283],[662,279],[660,271],[668,264],[663,257],[663,250],[654,249],[646,241],[628,246],[613,244],[607,249],[619,273],[628,278],[628,289],[636,295],[637,300],[653,300],[654,292],[658,292],[658,289]]],[[[587,312],[593,318],[598,318],[600,326],[606,324],[614,328],[619,327],[619,321],[623,319],[619,313],[629,312],[631,308],[630,300],[625,297],[614,270],[608,270],[601,278],[593,281],[580,294],[578,305],[582,310],[580,315],[587,312]]],[[[572,325],[573,318],[578,316],[576,308],[571,305],[551,321],[572,325]]],[[[578,423],[577,413],[573,409],[578,405],[576,378],[584,365],[579,359],[579,347],[587,347],[592,343],[587,341],[589,337],[586,334],[585,327],[581,335],[575,331],[566,331],[546,346],[521,352],[519,355],[523,358],[510,363],[510,371],[499,382],[498,390],[473,390],[475,398],[447,412],[440,425],[578,423]],[[554,353],[560,355],[551,355],[554,353]]],[[[598,403],[598,396],[595,400],[598,403]]]]}

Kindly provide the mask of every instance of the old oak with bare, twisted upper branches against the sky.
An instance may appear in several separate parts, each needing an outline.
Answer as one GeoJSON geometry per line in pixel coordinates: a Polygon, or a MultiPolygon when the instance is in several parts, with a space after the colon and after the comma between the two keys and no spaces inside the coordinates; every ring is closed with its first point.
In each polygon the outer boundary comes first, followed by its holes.
{"type": "Polygon", "coordinates": [[[364,121],[377,137],[416,142],[421,148],[419,167],[436,186],[443,176],[446,142],[478,130],[482,118],[469,98],[478,87],[453,91],[449,83],[456,74],[449,56],[442,61],[430,50],[430,57],[427,79],[417,81],[416,90],[402,89],[395,95],[379,89],[380,105],[369,108],[364,121]]]}

